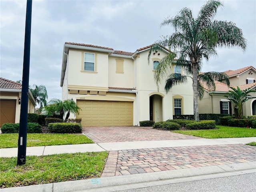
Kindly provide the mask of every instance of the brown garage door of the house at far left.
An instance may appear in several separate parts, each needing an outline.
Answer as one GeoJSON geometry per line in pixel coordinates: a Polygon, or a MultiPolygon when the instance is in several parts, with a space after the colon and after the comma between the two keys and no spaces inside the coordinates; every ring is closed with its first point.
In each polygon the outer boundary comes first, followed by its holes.
{"type": "Polygon", "coordinates": [[[16,100],[0,100],[0,126],[15,123],[16,100]]]}

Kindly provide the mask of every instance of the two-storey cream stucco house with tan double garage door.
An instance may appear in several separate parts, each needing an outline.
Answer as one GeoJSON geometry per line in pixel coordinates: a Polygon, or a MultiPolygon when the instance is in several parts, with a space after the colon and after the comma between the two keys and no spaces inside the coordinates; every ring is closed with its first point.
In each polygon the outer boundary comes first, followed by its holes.
{"type": "MultiPolygon", "coordinates": [[[[66,42],[63,49],[60,86],[62,100],[73,99],[81,108],[76,118],[83,126],[137,126],[139,121],[172,119],[173,114],[193,114],[192,81],[159,91],[154,70],[168,54],[152,53],[150,46],[135,52],[66,42]]],[[[182,74],[180,68],[172,68],[182,74]]],[[[74,116],[70,116],[70,118],[74,116]]]]}

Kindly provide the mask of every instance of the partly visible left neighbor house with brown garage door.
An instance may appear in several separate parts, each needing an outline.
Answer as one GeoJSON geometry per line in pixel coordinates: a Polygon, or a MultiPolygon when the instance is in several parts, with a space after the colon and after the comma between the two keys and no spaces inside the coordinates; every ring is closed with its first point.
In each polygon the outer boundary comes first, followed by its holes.
{"type": "MultiPolygon", "coordinates": [[[[20,122],[22,84],[0,77],[0,127],[4,123],[20,122]]],[[[30,90],[28,94],[28,113],[34,113],[36,101],[30,90]]]]}

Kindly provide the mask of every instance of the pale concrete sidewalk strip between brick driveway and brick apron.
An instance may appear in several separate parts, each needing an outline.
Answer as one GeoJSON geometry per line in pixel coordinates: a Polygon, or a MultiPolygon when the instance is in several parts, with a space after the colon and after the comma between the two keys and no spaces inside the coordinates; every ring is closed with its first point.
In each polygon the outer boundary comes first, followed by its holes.
{"type": "MultiPolygon", "coordinates": [[[[143,148],[165,148],[165,147],[183,147],[183,146],[207,146],[224,144],[246,144],[256,142],[256,137],[246,138],[221,138],[221,139],[186,139],[186,140],[162,140],[162,141],[135,141],[135,142],[112,142],[98,144],[75,144],[58,146],[39,146],[27,147],[27,155],[50,155],[76,152],[100,152],[132,150],[143,148]]],[[[18,154],[18,148],[0,149],[0,157],[15,157],[18,154]]]]}

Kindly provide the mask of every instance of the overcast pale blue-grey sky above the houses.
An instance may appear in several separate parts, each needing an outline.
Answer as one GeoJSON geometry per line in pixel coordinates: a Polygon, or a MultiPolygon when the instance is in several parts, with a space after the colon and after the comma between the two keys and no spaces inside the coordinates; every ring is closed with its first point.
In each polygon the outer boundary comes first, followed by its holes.
{"type": "MultiPolygon", "coordinates": [[[[160,28],[168,16],[183,7],[197,16],[205,1],[88,1],[33,0],[29,84],[45,85],[51,98],[61,99],[60,74],[65,42],[106,46],[135,52],[172,34],[160,28]]],[[[256,66],[256,1],[226,0],[216,19],[232,21],[248,40],[246,52],[218,50],[217,58],[204,62],[203,72],[256,66]]],[[[0,0],[0,76],[22,80],[26,1],[0,0]]]]}

